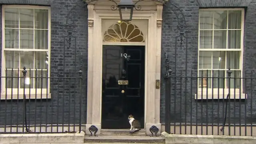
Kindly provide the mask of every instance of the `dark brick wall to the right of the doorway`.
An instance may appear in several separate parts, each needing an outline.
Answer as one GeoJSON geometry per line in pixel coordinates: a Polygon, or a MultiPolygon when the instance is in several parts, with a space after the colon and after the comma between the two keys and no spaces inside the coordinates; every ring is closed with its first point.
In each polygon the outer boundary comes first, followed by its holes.
{"type": "MultiPolygon", "coordinates": [[[[192,76],[197,76],[198,68],[198,12],[200,7],[204,8],[218,8],[218,7],[238,7],[246,6],[246,21],[244,31],[244,60],[243,69],[246,72],[251,72],[255,69],[256,64],[256,50],[255,45],[255,14],[256,14],[256,0],[172,0],[178,8],[180,8],[185,15],[187,22],[187,41],[188,51],[186,52],[186,43],[184,42],[182,48],[177,47],[177,59],[175,61],[175,37],[178,34],[175,33],[177,20],[175,14],[171,11],[171,8],[164,7],[163,10],[163,26],[162,26],[162,80],[161,80],[161,106],[160,106],[160,121],[164,123],[164,102],[165,102],[165,85],[164,85],[164,50],[168,52],[170,56],[170,62],[173,70],[173,75],[180,75],[181,71],[183,76],[186,74],[186,64],[188,76],[192,73],[192,76]],[[187,62],[186,62],[187,58],[187,62]],[[176,68],[176,73],[175,73],[176,68]]],[[[178,44],[180,44],[178,42],[178,44]]],[[[255,71],[255,70],[254,70],[255,71]]],[[[245,75],[245,74],[244,74],[245,75]]],[[[250,76],[247,73],[247,76],[250,76]]],[[[255,80],[254,80],[255,81],[255,80]]],[[[226,103],[218,101],[201,102],[194,100],[194,94],[196,93],[196,79],[187,80],[186,82],[180,78],[172,78],[172,91],[171,91],[171,122],[188,122],[191,123],[222,123],[223,114],[226,103]],[[176,81],[176,89],[174,88],[176,81]],[[192,83],[191,83],[192,81],[192,83]],[[174,107],[176,106],[176,112],[174,107]],[[197,107],[196,107],[197,106],[197,107]],[[201,109],[202,108],[202,109],[201,109]],[[219,110],[219,111],[218,111],[219,110]],[[196,117],[197,112],[197,117],[196,117]],[[218,119],[218,117],[220,117],[218,119]]],[[[241,104],[241,122],[255,123],[256,115],[256,99],[252,99],[252,94],[255,93],[255,85],[251,86],[250,80],[246,82],[246,88],[248,92],[247,101],[231,102],[230,103],[230,122],[239,124],[239,104],[241,104]],[[251,91],[252,90],[252,91],[251,91]],[[251,94],[252,92],[252,94],[251,94]],[[252,99],[252,101],[251,101],[252,99]],[[251,105],[252,102],[252,105],[251,105]],[[252,107],[251,107],[252,106],[252,107]],[[246,108],[246,109],[245,109],[246,108]],[[251,114],[252,110],[252,114],[251,114]]],[[[227,115],[229,116],[229,114],[227,115]]],[[[227,119],[228,122],[228,119],[227,119]]]]}

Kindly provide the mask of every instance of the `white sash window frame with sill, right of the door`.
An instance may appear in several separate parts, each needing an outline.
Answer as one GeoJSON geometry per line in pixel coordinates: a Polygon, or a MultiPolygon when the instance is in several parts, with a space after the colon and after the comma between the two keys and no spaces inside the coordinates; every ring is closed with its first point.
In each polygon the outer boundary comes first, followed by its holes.
{"type": "MultiPolygon", "coordinates": [[[[240,56],[240,70],[241,70],[241,78],[242,78],[242,74],[243,74],[243,58],[244,58],[244,9],[243,8],[207,8],[207,9],[200,9],[199,10],[199,22],[198,22],[198,90],[197,90],[197,94],[195,94],[195,98],[197,100],[201,100],[201,99],[208,99],[211,100],[213,99],[226,99],[227,95],[228,95],[228,88],[199,88],[199,78],[202,76],[202,73],[200,73],[200,70],[203,69],[199,69],[199,60],[200,60],[200,51],[239,51],[241,52],[241,56],[240,56]],[[214,48],[214,49],[210,49],[210,48],[201,48],[200,49],[200,30],[204,30],[204,29],[200,29],[200,12],[201,11],[229,11],[229,10],[240,10],[241,11],[241,43],[240,43],[240,49],[222,49],[222,48],[214,48]],[[208,89],[208,91],[207,91],[208,89]],[[207,92],[206,92],[207,91],[207,92]],[[224,93],[223,93],[224,91],[224,93]],[[213,92],[213,93],[212,93],[213,92]]],[[[207,30],[214,30],[214,29],[207,29],[207,30]]],[[[217,29],[218,30],[218,29],[217,29]]],[[[226,28],[226,30],[228,30],[228,28],[226,28]]],[[[208,70],[212,70],[212,69],[208,69],[208,70]]],[[[223,69],[222,69],[223,70],[223,69]]],[[[231,69],[232,70],[232,69],[231,69]]],[[[208,77],[212,77],[208,76],[208,77]]],[[[211,79],[211,78],[210,78],[211,79]]],[[[246,99],[247,98],[247,94],[243,93],[243,79],[241,79],[241,90],[240,88],[230,88],[230,98],[231,99],[246,99]]]]}

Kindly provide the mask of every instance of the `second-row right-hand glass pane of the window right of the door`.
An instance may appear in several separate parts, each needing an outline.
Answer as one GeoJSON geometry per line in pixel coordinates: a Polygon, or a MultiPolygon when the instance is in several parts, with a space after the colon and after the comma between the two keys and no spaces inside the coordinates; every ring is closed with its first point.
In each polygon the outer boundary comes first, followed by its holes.
{"type": "Polygon", "coordinates": [[[228,30],[228,48],[241,48],[241,30],[228,30]]]}

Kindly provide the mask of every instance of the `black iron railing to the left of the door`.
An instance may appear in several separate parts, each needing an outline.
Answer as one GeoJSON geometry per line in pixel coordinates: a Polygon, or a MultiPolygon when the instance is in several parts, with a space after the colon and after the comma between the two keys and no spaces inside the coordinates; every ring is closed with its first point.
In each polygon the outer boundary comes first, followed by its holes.
{"type": "Polygon", "coordinates": [[[0,133],[81,132],[86,123],[81,66],[73,76],[25,67],[9,71],[0,80],[0,133]]]}

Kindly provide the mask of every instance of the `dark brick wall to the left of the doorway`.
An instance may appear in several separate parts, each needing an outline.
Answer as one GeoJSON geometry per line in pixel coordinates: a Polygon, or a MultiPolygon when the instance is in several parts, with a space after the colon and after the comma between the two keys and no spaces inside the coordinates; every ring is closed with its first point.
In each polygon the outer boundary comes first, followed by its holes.
{"type": "MultiPolygon", "coordinates": [[[[59,124],[67,124],[69,121],[71,124],[74,124],[74,122],[79,124],[80,102],[82,103],[82,124],[86,123],[88,15],[87,8],[82,0],[1,0],[0,6],[1,4],[43,5],[51,7],[50,74],[51,77],[54,77],[50,81],[52,98],[47,101],[31,100],[27,102],[27,116],[30,124],[45,124],[46,121],[48,124],[56,124],[57,122],[59,124]],[[68,44],[66,44],[64,51],[64,36],[68,34],[66,18],[74,6],[76,8],[70,16],[73,17],[72,22],[74,22],[72,24],[74,26],[72,35],[76,37],[76,47],[74,38],[72,38],[71,47],[68,48],[68,44]],[[83,79],[80,99],[78,70],[81,54],[83,79]],[[60,77],[59,80],[57,77],[60,77]],[[77,77],[77,79],[68,77],[77,77]]],[[[0,39],[1,36],[2,24],[0,24],[0,39]]],[[[0,42],[0,48],[2,48],[1,43],[2,41],[0,42]]],[[[13,102],[1,100],[0,125],[5,124],[6,116],[8,125],[11,122],[12,124],[17,124],[17,121],[19,124],[22,124],[23,110],[22,100],[13,100],[13,102]],[[10,114],[11,110],[12,116],[10,114]]]]}

